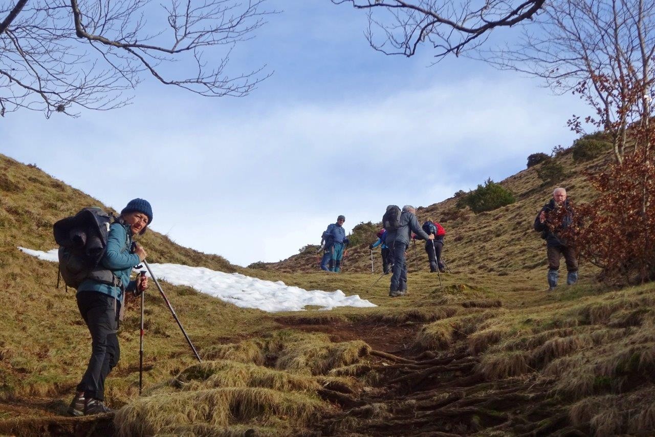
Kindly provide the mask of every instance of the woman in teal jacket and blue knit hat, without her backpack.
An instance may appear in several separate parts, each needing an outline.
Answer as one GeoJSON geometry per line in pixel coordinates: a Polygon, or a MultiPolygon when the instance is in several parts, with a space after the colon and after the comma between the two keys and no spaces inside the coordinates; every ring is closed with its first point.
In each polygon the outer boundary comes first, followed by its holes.
{"type": "Polygon", "coordinates": [[[152,221],[150,203],[143,199],[130,200],[109,228],[107,249],[100,261],[111,277],[117,279],[116,285],[87,279],[77,288],[77,307],[91,333],[91,358],[69,406],[71,415],[112,411],[104,404],[105,378],[121,357],[117,329],[122,320],[125,292],[140,294],[148,287],[145,277],[137,276],[136,281],[130,281],[132,267],[146,256],[139,245],[132,253],[132,236],[143,234],[152,221]]]}

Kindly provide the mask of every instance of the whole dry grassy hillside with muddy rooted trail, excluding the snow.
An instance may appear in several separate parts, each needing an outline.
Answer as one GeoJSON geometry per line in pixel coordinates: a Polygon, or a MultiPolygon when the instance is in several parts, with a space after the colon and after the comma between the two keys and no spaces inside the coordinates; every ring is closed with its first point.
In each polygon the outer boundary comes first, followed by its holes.
{"type": "MultiPolygon", "coordinates": [[[[593,196],[567,154],[564,186],[593,196]]],[[[138,311],[128,303],[122,358],[107,379],[115,414],[62,417],[90,339],[73,291],[56,289],[56,264],[16,250],[54,246],[52,222],[98,201],[39,169],[0,156],[0,434],[648,435],[655,304],[651,284],[609,289],[582,264],[578,285],[547,293],[545,248],[531,230],[550,196],[531,168],[502,184],[517,202],[474,215],[456,199],[419,209],[448,234],[452,269],[427,272],[410,255],[409,295],[388,297],[370,274],[367,244],[346,273],[315,271],[299,254],[260,269],[179,247],[156,232],[153,262],[179,262],[305,289],[359,294],[376,308],[265,313],[163,283],[200,350],[198,364],[158,295],[147,295],[145,392],[138,396],[138,311]],[[350,273],[348,273],[350,271],[350,273]]],[[[362,232],[366,226],[361,226],[362,232]]],[[[377,254],[376,254],[377,255],[377,254]]],[[[376,257],[379,272],[379,257],[376,257]]],[[[310,309],[310,308],[308,308],[310,309]]]]}

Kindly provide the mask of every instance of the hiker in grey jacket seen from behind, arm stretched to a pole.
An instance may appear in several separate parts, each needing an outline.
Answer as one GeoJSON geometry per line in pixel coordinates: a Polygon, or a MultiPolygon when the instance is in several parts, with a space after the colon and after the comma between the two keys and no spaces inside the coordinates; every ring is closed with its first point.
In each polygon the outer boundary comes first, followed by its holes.
{"type": "Polygon", "coordinates": [[[400,214],[400,226],[397,229],[387,230],[386,232],[386,245],[390,247],[394,255],[394,268],[389,287],[389,295],[391,297],[407,294],[407,260],[405,259],[405,251],[409,247],[412,232],[424,240],[434,239],[434,235],[426,234],[421,229],[421,226],[419,226],[415,207],[405,205],[400,214]]]}

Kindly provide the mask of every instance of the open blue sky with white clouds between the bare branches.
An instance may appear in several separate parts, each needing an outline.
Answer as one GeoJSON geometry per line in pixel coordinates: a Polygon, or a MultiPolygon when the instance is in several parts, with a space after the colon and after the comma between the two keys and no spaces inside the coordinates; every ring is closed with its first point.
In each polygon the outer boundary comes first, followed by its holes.
{"type": "Polygon", "coordinates": [[[157,232],[247,265],[318,243],[339,214],[350,230],[390,203],[430,205],[508,177],[529,154],[571,144],[566,121],[584,114],[574,96],[482,62],[375,52],[365,14],[345,5],[269,9],[283,12],[231,56],[234,72],[273,72],[250,96],[146,78],[119,110],[8,114],[0,152],[119,210],[148,199],[157,232]]]}

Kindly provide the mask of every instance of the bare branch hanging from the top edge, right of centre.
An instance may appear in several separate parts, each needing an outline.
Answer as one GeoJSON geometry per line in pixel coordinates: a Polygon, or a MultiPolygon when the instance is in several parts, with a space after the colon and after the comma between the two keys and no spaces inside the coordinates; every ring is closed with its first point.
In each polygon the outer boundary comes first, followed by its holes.
{"type": "Polygon", "coordinates": [[[373,49],[413,56],[419,45],[429,43],[434,56],[443,58],[481,45],[495,28],[532,18],[546,0],[331,1],[367,10],[366,37],[373,49]]]}

